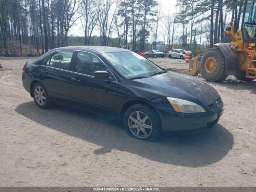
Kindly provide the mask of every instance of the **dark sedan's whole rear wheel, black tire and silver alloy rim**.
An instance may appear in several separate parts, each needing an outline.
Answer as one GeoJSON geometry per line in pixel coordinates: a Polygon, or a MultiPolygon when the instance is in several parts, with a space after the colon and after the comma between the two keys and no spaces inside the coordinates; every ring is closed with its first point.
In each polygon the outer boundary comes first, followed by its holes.
{"type": "Polygon", "coordinates": [[[48,92],[42,83],[35,83],[33,86],[33,98],[36,105],[42,109],[47,109],[51,106],[48,92]]]}

